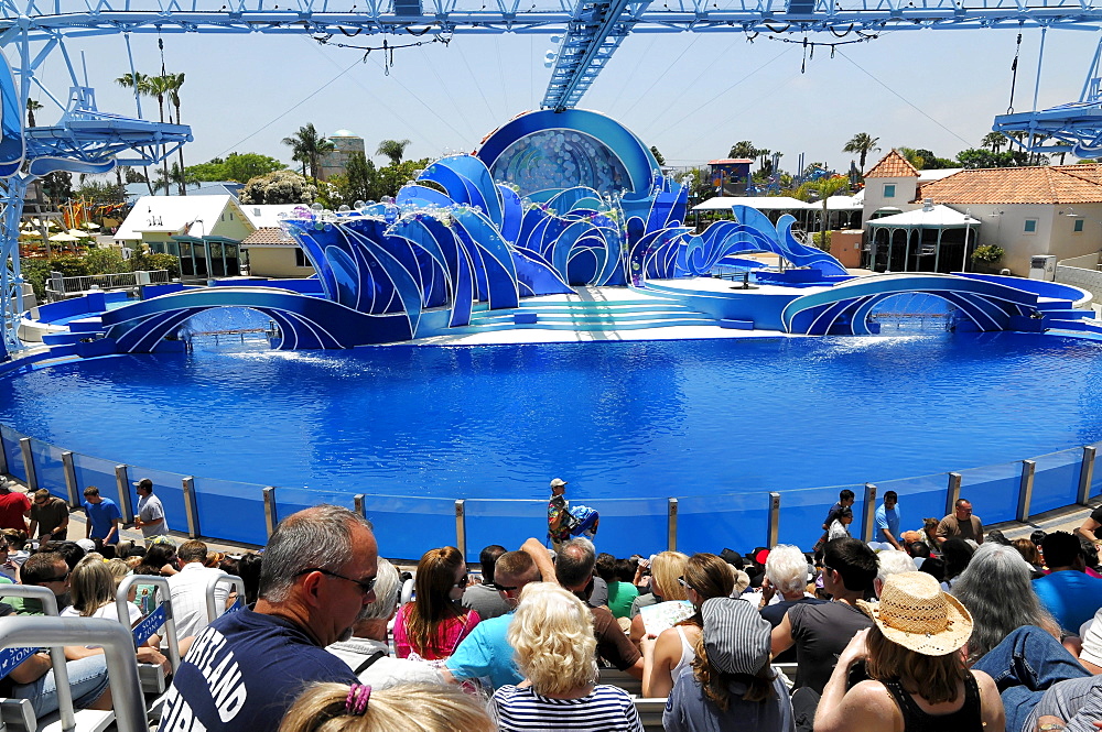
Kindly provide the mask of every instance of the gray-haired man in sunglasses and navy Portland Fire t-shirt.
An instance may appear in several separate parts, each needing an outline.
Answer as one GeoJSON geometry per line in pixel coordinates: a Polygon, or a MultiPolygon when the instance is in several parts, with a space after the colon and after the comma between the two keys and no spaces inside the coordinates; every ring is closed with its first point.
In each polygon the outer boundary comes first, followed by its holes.
{"type": "Polygon", "coordinates": [[[378,557],[370,525],[347,509],[318,505],[280,522],[264,549],[257,603],[195,638],[161,729],[277,732],[307,686],[356,682],[325,646],[352,637],[364,605],[375,602],[378,557]]]}

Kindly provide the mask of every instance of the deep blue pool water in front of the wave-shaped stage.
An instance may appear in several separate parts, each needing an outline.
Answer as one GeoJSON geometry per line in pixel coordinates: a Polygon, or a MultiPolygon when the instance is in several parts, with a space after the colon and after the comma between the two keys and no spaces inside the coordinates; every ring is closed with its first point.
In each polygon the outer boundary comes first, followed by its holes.
{"type": "Polygon", "coordinates": [[[1024,334],[123,356],[0,381],[88,456],[349,493],[763,491],[1102,439],[1102,343],[1024,334]]]}

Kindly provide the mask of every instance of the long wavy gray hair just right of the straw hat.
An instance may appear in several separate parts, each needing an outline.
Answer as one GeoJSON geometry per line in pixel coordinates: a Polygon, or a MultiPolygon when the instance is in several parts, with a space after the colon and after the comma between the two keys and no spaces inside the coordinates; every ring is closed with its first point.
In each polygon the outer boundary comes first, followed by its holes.
{"type": "Polygon", "coordinates": [[[1059,632],[1034,592],[1031,571],[1013,546],[985,543],[957,577],[951,592],[972,613],[970,665],[1023,625],[1059,632]]]}

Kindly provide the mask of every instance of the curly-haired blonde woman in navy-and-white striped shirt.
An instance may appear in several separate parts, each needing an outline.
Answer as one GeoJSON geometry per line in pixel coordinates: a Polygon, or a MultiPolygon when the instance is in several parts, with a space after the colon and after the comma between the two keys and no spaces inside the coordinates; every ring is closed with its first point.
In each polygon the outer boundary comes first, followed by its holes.
{"type": "Polygon", "coordinates": [[[596,684],[593,616],[573,594],[549,582],[525,587],[508,640],[526,680],[494,693],[501,732],[642,732],[627,692],[596,684]]]}

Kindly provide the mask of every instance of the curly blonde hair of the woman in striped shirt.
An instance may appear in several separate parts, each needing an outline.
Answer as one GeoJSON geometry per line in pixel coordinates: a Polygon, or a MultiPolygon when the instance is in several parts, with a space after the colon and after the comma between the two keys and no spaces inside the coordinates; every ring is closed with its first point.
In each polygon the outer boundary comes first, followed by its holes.
{"type": "Polygon", "coordinates": [[[539,695],[565,693],[597,680],[593,615],[558,584],[525,587],[508,640],[517,652],[517,667],[539,695]]]}

